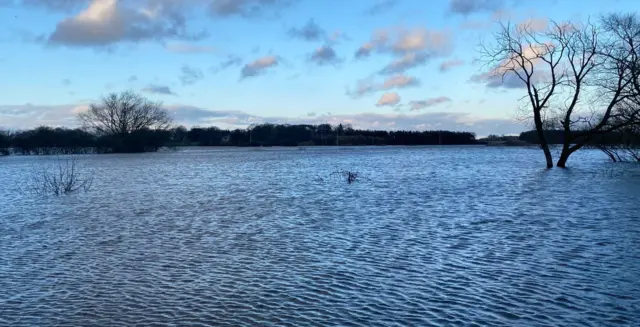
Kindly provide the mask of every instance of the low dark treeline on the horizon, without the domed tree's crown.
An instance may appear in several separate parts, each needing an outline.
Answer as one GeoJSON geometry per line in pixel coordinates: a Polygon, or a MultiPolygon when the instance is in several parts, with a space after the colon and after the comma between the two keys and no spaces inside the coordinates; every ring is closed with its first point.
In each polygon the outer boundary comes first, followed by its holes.
{"type": "Polygon", "coordinates": [[[183,126],[141,129],[96,136],[84,129],[41,126],[0,132],[0,153],[75,154],[157,151],[168,146],[313,146],[313,145],[455,145],[477,144],[469,132],[378,131],[350,126],[261,124],[248,129],[183,126]],[[10,151],[11,149],[11,151],[10,151]]]}

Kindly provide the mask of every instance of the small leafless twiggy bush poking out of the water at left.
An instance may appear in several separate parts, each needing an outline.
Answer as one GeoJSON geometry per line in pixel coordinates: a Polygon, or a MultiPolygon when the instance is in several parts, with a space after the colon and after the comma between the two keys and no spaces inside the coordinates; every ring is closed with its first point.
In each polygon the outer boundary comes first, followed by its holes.
{"type": "Polygon", "coordinates": [[[92,172],[83,170],[76,157],[57,158],[51,167],[34,169],[27,191],[39,196],[61,196],[87,192],[92,184],[92,172]]]}

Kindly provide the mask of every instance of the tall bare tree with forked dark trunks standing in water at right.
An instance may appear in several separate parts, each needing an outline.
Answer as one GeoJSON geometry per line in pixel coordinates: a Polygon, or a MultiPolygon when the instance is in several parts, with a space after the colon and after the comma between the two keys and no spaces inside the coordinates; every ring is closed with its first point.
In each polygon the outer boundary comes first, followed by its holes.
{"type": "Polygon", "coordinates": [[[533,119],[548,168],[553,156],[547,129],[561,129],[564,144],[556,166],[601,134],[632,123],[640,113],[635,14],[613,14],[598,24],[551,22],[541,30],[530,24],[501,23],[495,40],[481,48],[489,77],[516,81],[533,119]]]}

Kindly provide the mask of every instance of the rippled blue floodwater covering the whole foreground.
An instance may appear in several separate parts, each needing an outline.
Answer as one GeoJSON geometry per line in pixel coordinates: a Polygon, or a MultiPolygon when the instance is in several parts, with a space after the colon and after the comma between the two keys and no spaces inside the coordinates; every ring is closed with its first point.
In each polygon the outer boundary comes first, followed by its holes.
{"type": "Polygon", "coordinates": [[[0,158],[3,326],[640,326],[640,170],[598,152],[87,155],[21,195],[52,160],[0,158]]]}

